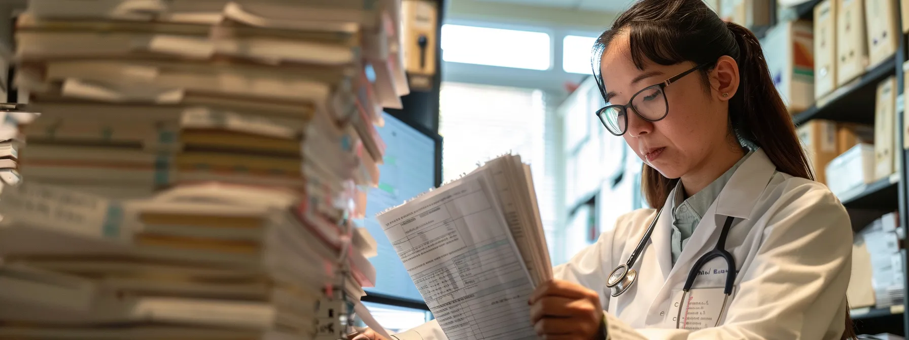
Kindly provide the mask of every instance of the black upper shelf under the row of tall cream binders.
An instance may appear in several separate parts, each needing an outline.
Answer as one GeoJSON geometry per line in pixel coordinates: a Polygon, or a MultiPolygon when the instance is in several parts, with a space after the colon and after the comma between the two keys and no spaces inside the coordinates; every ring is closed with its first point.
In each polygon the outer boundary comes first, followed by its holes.
{"type": "MultiPolygon", "coordinates": [[[[874,124],[874,97],[877,84],[896,73],[896,58],[891,56],[862,76],[847,83],[793,116],[795,125],[813,119],[874,124]]],[[[899,65],[902,67],[903,65],[899,65]]]]}

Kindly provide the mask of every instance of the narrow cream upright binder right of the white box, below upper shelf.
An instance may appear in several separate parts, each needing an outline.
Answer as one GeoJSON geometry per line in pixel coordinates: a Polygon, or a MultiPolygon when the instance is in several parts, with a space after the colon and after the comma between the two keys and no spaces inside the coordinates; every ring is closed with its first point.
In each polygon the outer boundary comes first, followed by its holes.
{"type": "Polygon", "coordinates": [[[883,179],[894,173],[894,125],[896,124],[896,78],[877,85],[874,101],[874,175],[883,179]]]}

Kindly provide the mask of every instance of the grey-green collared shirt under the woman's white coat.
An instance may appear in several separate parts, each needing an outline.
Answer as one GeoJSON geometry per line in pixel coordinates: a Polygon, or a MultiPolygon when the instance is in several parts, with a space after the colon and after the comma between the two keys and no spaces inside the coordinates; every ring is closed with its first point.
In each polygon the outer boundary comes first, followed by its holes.
{"type": "Polygon", "coordinates": [[[732,168],[726,170],[723,176],[720,176],[720,178],[714,180],[710,185],[707,185],[704,189],[701,189],[688,199],[684,199],[682,181],[679,180],[678,184],[675,185],[672,206],[673,230],[670,242],[673,248],[673,266],[675,265],[675,259],[682,254],[682,249],[685,244],[688,243],[688,238],[691,238],[691,234],[694,233],[694,228],[701,222],[701,218],[704,217],[707,209],[710,209],[710,206],[714,204],[714,200],[720,196],[720,191],[723,190],[726,182],[733,177],[733,174],[735,173],[735,170],[738,169],[739,165],[742,165],[744,160],[746,160],[748,156],[751,156],[753,152],[754,151],[749,151],[741,160],[735,162],[735,165],[733,165],[732,168]]]}

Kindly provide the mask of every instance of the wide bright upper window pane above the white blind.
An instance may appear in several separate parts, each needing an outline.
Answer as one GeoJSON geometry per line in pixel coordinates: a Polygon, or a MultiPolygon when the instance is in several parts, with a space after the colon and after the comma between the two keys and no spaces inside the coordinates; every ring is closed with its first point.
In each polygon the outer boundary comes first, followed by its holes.
{"type": "Polygon", "coordinates": [[[489,27],[445,24],[442,58],[445,62],[549,70],[549,34],[489,27]]]}

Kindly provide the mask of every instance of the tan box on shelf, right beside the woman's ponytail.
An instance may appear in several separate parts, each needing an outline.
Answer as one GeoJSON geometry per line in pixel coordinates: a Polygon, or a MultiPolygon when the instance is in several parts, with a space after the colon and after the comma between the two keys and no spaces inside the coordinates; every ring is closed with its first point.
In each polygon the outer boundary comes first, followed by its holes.
{"type": "Polygon", "coordinates": [[[839,155],[836,152],[836,122],[812,120],[798,128],[808,165],[814,172],[814,180],[824,183],[824,168],[839,155]]]}

